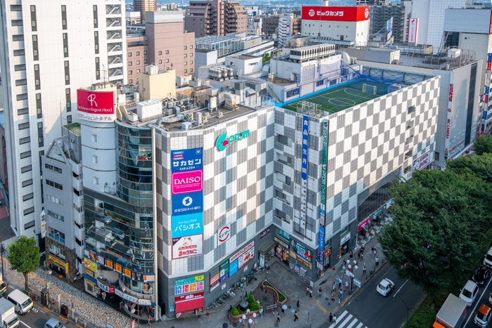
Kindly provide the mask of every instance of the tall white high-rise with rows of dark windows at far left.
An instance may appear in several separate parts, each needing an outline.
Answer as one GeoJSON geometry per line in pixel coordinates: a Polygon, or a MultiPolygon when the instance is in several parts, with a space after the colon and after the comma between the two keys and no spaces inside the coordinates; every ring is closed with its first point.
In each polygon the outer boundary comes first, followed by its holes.
{"type": "Polygon", "coordinates": [[[40,232],[41,157],[77,110],[77,88],[126,84],[123,0],[1,2],[0,60],[4,95],[11,226],[40,232]]]}

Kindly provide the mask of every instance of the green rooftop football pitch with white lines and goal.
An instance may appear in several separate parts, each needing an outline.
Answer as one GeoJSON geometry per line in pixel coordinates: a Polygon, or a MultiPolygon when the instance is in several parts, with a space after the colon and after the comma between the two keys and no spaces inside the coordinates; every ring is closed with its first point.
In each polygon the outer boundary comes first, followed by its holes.
{"type": "Polygon", "coordinates": [[[389,84],[373,81],[358,81],[294,101],[283,107],[287,110],[297,111],[297,106],[307,101],[318,105],[318,110],[335,113],[387,94],[388,86],[389,84]]]}

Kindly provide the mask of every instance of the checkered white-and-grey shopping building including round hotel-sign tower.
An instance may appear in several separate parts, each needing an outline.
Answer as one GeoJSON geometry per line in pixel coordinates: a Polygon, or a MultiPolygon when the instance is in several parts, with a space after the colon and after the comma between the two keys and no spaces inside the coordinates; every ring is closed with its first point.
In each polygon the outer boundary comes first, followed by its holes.
{"type": "Polygon", "coordinates": [[[202,311],[274,256],[322,279],[356,246],[361,204],[434,154],[439,77],[332,114],[119,93],[78,95],[84,279],[153,316],[202,311]]]}

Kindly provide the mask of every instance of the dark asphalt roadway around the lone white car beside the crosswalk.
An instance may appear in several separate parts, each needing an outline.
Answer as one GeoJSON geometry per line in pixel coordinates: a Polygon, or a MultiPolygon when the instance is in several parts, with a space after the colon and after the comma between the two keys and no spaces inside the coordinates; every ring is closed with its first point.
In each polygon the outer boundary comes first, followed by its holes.
{"type": "Polygon", "coordinates": [[[382,327],[383,323],[386,328],[400,328],[406,322],[407,312],[410,316],[423,298],[424,293],[420,288],[396,275],[396,271],[386,265],[337,314],[337,327],[342,328],[344,322],[349,324],[356,318],[370,328],[382,327]],[[377,284],[383,278],[395,284],[394,290],[386,297],[376,291],[377,284]],[[344,311],[347,311],[345,315],[344,311]],[[350,320],[349,316],[352,316],[350,320]]]}

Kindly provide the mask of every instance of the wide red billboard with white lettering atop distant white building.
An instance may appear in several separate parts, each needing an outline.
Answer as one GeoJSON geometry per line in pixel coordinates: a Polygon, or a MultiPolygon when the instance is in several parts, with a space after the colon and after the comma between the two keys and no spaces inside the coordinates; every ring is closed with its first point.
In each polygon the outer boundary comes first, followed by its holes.
{"type": "Polygon", "coordinates": [[[369,19],[369,7],[302,6],[302,20],[360,22],[369,19]]]}

